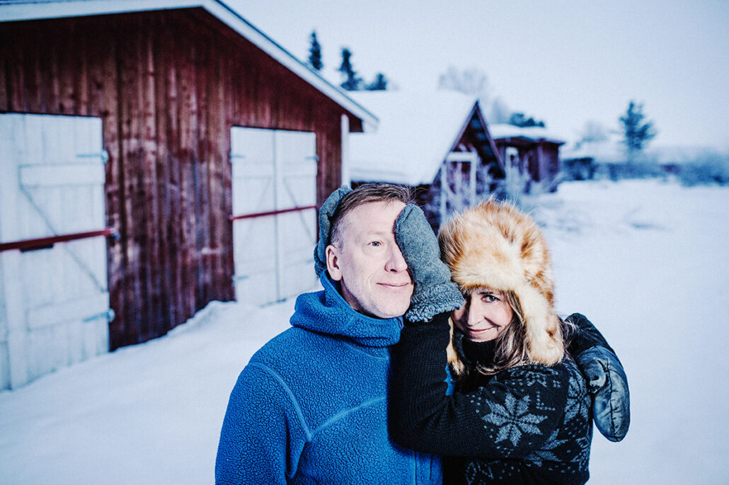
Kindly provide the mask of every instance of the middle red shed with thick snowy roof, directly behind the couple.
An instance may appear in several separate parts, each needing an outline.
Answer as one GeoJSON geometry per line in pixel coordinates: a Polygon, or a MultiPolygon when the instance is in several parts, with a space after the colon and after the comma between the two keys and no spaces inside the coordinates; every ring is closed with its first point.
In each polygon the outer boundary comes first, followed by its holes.
{"type": "Polygon", "coordinates": [[[488,197],[504,179],[502,160],[475,98],[445,90],[352,96],[380,120],[375,133],[349,139],[353,185],[414,187],[434,230],[453,212],[488,197]]]}

